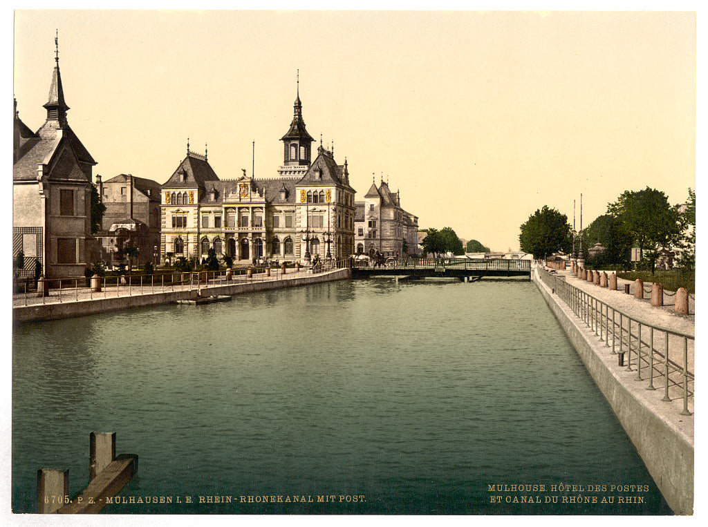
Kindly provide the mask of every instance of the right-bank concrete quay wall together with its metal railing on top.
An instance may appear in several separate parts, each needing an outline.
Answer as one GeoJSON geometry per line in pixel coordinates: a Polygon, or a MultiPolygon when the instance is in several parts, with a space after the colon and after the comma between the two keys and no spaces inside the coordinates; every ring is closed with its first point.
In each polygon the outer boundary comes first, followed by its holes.
{"type": "Polygon", "coordinates": [[[629,313],[542,267],[532,279],[668,505],[692,514],[694,335],[652,325],[641,300],[629,313]]]}

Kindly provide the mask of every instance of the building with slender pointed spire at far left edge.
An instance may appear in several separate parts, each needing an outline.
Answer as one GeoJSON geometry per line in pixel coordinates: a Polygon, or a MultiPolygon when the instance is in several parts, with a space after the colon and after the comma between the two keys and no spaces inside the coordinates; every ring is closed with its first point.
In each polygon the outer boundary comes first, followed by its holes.
{"type": "Polygon", "coordinates": [[[20,276],[35,269],[47,278],[83,277],[91,261],[91,172],[96,161],[67,122],[59,52],[47,119],[37,132],[21,120],[15,102],[13,137],[13,257],[20,276]]]}

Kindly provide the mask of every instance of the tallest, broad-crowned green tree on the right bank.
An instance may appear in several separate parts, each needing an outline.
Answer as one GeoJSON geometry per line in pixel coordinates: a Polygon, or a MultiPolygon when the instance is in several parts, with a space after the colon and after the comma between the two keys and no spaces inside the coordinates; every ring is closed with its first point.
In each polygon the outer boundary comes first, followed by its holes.
{"type": "Polygon", "coordinates": [[[614,203],[607,204],[607,212],[617,217],[634,241],[639,254],[646,255],[653,274],[659,250],[668,248],[679,240],[683,219],[678,209],[671,207],[660,190],[625,190],[614,203]]]}

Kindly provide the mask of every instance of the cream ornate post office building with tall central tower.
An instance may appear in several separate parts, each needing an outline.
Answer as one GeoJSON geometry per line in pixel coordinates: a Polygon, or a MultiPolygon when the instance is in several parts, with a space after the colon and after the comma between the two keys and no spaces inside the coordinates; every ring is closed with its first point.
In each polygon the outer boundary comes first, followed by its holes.
{"type": "Polygon", "coordinates": [[[354,246],[354,194],[346,160],[338,165],[305,129],[299,90],[290,129],[280,139],[283,163],[273,178],[220,179],[207,154],[187,156],[162,185],[161,262],[227,254],[253,260],[307,263],[343,258],[354,246]]]}

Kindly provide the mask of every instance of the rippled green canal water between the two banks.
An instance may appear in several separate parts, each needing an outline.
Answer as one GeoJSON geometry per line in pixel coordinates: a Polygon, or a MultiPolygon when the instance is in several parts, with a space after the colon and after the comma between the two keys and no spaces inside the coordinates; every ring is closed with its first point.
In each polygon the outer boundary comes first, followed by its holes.
{"type": "Polygon", "coordinates": [[[15,512],[42,467],[83,490],[96,431],[139,456],[106,513],[670,514],[530,282],[342,280],[22,325],[12,408],[15,512]]]}

